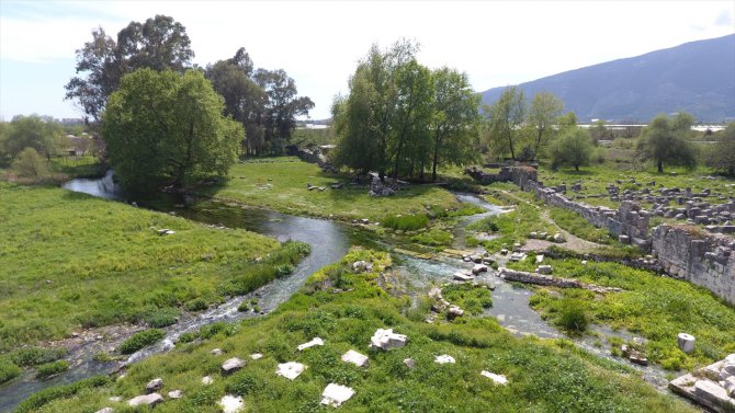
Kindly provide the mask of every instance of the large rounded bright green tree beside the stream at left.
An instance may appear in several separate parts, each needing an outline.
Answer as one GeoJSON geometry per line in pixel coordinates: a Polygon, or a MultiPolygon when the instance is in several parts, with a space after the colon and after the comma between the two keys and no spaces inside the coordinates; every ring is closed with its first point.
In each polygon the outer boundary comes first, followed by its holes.
{"type": "Polygon", "coordinates": [[[102,115],[115,175],[132,190],[224,175],[244,130],[223,108],[224,99],[200,71],[138,69],[124,76],[102,115]]]}

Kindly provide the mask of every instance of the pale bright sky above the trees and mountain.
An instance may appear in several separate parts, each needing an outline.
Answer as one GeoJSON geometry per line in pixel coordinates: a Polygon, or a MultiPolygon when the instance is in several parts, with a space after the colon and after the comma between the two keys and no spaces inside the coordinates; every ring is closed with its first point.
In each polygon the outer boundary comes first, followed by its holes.
{"type": "MultiPolygon", "coordinates": [[[[91,31],[116,37],[156,14],[186,28],[200,66],[239,47],[284,69],[329,117],[376,43],[420,44],[419,61],[464,71],[480,92],[735,33],[735,1],[43,1],[0,0],[0,119],[81,117],[64,101],[91,31]]],[[[735,76],[735,74],[734,74],[735,76]]]]}

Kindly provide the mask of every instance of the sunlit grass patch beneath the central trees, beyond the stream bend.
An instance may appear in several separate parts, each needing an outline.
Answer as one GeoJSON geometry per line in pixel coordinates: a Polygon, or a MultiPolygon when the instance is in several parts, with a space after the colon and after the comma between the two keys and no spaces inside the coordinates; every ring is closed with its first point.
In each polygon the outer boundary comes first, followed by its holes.
{"type": "Polygon", "coordinates": [[[296,158],[267,158],[235,164],[224,186],[212,188],[208,194],[292,215],[333,215],[342,220],[380,221],[391,215],[423,213],[427,206],[459,206],[454,195],[431,185],[411,185],[385,197],[371,197],[369,191],[368,184],[350,185],[348,176],[324,173],[316,164],[296,158]],[[307,183],[327,190],[308,191],[307,183]],[[331,190],[332,183],[344,183],[344,186],[331,190]]]}

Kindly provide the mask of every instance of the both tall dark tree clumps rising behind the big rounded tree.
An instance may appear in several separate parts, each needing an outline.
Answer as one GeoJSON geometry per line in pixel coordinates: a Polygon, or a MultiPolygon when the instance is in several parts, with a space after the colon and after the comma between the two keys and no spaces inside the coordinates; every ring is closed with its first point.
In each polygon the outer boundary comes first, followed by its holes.
{"type": "Polygon", "coordinates": [[[242,154],[283,153],[295,117],[314,107],[308,97],[297,95],[294,80],[282,69],[256,69],[245,48],[205,68],[192,65],[193,57],[185,27],[170,16],[131,22],[116,39],[99,27],[77,50],[78,76],[65,87],[66,99],[76,101],[88,122],[98,124],[126,74],[144,68],[178,74],[199,71],[224,96],[225,114],[242,125],[242,154]]]}

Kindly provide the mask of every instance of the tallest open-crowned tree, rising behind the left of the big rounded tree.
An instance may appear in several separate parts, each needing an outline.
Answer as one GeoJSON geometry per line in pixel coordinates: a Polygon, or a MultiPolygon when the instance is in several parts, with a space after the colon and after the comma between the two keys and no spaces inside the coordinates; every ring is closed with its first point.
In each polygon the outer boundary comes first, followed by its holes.
{"type": "Polygon", "coordinates": [[[67,100],[76,100],[84,113],[99,121],[108,96],[125,73],[139,68],[183,72],[194,53],[181,23],[156,15],[145,23],[131,22],[117,41],[102,27],[92,31],[92,41],[77,50],[77,74],[66,84],[67,100]]]}

